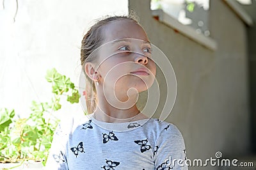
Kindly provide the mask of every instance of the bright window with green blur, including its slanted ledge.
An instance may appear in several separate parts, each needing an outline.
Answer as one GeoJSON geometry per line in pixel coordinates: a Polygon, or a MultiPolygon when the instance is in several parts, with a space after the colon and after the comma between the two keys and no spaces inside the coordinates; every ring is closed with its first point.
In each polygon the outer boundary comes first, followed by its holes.
{"type": "Polygon", "coordinates": [[[209,30],[209,0],[151,0],[152,15],[195,42],[216,50],[209,30]]]}

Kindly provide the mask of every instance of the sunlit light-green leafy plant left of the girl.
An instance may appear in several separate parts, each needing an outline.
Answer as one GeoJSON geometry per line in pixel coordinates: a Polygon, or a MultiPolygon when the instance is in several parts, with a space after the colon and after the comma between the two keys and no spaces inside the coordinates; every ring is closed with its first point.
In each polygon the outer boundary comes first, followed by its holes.
{"type": "Polygon", "coordinates": [[[45,165],[59,122],[52,113],[61,109],[63,97],[71,104],[79,102],[74,83],[55,68],[47,71],[45,79],[52,84],[52,98],[49,102],[33,101],[28,118],[19,118],[14,110],[0,109],[0,162],[35,160],[45,165]]]}

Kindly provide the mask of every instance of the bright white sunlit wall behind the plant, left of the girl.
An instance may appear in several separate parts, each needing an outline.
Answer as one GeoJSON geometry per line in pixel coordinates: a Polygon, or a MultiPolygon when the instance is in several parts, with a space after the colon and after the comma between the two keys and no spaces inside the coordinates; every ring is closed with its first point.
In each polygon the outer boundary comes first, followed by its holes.
{"type": "MultiPolygon", "coordinates": [[[[2,0],[3,1],[3,0],[2,0]]],[[[2,1],[0,4],[2,4],[2,1]]],[[[127,0],[19,1],[0,5],[0,108],[29,114],[32,100],[48,102],[51,84],[46,70],[56,68],[78,86],[80,49],[93,20],[128,13],[127,0]]],[[[83,114],[80,104],[64,104],[61,112],[83,114]]]]}

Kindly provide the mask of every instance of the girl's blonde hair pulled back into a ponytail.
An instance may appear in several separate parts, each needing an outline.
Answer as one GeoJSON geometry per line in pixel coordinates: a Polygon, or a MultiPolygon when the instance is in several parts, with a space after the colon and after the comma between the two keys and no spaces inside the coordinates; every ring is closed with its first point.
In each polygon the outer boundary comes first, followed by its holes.
{"type": "MultiPolygon", "coordinates": [[[[81,65],[84,67],[84,63],[86,62],[95,62],[95,55],[90,56],[92,52],[100,47],[102,45],[102,42],[104,40],[104,34],[102,33],[102,28],[109,24],[110,22],[117,21],[117,20],[131,20],[133,22],[138,23],[138,18],[134,13],[132,15],[128,16],[114,16],[109,17],[107,16],[105,19],[97,20],[96,24],[94,24],[86,35],[84,35],[81,45],[81,65]],[[90,57],[89,57],[90,56],[90,57]],[[89,57],[89,58],[88,58],[89,57]]],[[[84,71],[84,68],[83,68],[84,71]]],[[[90,114],[93,111],[95,111],[97,106],[97,91],[95,87],[95,83],[86,75],[84,71],[85,77],[86,77],[86,108],[87,113],[90,114]]]]}

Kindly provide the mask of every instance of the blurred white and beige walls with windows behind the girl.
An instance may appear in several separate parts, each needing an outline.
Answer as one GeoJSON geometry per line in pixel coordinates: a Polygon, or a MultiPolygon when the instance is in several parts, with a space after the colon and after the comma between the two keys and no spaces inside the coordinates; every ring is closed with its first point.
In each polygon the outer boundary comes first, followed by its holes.
{"type": "MultiPolygon", "coordinates": [[[[255,0],[2,0],[0,108],[28,116],[32,100],[51,98],[50,68],[78,86],[84,33],[95,19],[132,11],[175,70],[177,98],[166,121],[182,132],[187,157],[221,151],[256,167],[255,9],[255,0]]],[[[70,114],[83,114],[80,104],[64,103],[58,115],[70,114]]]]}

